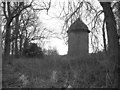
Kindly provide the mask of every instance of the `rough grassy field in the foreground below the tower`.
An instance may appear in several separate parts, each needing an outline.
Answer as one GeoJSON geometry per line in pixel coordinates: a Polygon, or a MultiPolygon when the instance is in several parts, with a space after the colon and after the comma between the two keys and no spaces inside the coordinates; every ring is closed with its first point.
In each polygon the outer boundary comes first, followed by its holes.
{"type": "Polygon", "coordinates": [[[111,87],[106,81],[106,66],[100,63],[103,59],[102,56],[13,58],[12,65],[3,65],[3,87],[62,88],[66,81],[73,88],[111,87]]]}

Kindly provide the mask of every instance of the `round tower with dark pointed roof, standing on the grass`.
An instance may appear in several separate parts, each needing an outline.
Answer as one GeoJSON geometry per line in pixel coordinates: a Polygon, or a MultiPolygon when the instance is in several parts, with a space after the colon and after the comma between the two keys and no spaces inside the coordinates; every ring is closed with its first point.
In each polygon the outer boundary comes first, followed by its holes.
{"type": "Polygon", "coordinates": [[[68,29],[68,55],[85,57],[88,55],[88,30],[80,18],[78,18],[68,29]]]}

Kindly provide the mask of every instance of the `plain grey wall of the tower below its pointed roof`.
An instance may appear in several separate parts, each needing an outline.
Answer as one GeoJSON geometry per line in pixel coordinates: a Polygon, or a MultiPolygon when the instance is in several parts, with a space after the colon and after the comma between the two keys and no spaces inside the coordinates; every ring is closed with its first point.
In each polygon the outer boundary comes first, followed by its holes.
{"type": "Polygon", "coordinates": [[[70,32],[68,33],[68,55],[85,57],[88,55],[88,33],[70,32]]]}

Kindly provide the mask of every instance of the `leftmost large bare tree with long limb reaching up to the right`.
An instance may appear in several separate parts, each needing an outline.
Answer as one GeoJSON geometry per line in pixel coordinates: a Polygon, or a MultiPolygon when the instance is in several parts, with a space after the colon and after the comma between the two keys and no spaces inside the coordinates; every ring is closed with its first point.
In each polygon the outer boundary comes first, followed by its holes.
{"type": "Polygon", "coordinates": [[[5,34],[5,48],[4,48],[4,54],[5,59],[7,60],[10,54],[10,33],[11,33],[11,22],[16,17],[19,16],[20,13],[31,6],[31,3],[29,5],[25,5],[24,2],[19,2],[18,6],[12,6],[10,2],[2,2],[3,3],[3,12],[6,19],[6,34],[5,34]]]}

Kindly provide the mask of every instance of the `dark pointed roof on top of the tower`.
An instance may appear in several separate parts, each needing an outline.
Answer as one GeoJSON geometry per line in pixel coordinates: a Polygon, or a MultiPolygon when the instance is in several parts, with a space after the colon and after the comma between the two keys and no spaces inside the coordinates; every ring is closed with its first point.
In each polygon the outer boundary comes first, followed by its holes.
{"type": "Polygon", "coordinates": [[[68,32],[74,32],[74,31],[85,31],[85,32],[90,32],[88,30],[87,25],[80,19],[78,18],[68,29],[68,32]]]}

